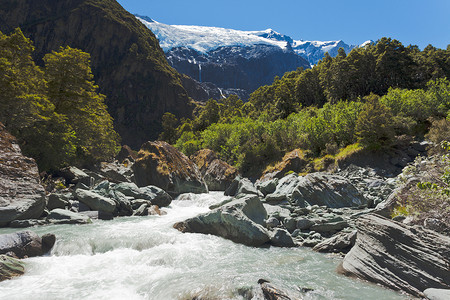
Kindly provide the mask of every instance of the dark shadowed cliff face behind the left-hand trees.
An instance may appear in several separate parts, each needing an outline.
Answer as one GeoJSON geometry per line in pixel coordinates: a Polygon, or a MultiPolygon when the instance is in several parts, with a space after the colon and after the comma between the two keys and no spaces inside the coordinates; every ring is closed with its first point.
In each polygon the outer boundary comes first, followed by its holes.
{"type": "Polygon", "coordinates": [[[38,60],[66,45],[91,54],[115,129],[133,148],[157,137],[164,112],[192,112],[153,33],[114,0],[0,0],[0,31],[16,27],[34,41],[38,60]]]}

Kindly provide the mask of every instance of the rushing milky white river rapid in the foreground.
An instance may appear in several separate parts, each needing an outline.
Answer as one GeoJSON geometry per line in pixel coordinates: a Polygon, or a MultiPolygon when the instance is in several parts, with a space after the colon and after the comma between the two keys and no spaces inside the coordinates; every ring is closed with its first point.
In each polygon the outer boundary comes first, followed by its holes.
{"type": "MultiPolygon", "coordinates": [[[[25,259],[25,275],[0,282],[0,299],[245,299],[260,278],[294,298],[407,299],[336,274],[340,258],[309,248],[252,248],[220,237],[181,233],[173,224],[208,211],[223,193],[184,195],[166,215],[90,225],[31,228],[54,233],[48,256],[25,259]],[[186,197],[187,196],[187,197],[186,197]],[[302,294],[298,288],[313,288],[302,294]]],[[[0,233],[19,231],[2,228],[0,233]]],[[[253,299],[261,299],[258,293],[253,299]]]]}

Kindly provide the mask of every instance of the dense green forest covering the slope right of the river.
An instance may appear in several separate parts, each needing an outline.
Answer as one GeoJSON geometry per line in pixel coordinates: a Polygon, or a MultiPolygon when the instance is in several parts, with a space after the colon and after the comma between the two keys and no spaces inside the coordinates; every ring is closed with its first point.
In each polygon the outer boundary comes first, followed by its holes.
{"type": "Polygon", "coordinates": [[[420,51],[382,38],[275,78],[247,103],[236,96],[210,100],[193,119],[180,121],[168,113],[160,138],[188,155],[210,148],[246,175],[296,148],[310,158],[335,155],[355,143],[386,148],[395,136],[423,136],[433,120],[448,116],[446,78],[450,47],[420,51]]]}

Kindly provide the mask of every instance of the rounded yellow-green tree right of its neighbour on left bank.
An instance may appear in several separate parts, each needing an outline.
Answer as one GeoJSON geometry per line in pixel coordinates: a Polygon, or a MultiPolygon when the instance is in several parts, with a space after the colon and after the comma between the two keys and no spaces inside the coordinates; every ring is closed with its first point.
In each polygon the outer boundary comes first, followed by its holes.
{"type": "Polygon", "coordinates": [[[112,158],[119,136],[113,130],[105,95],[97,93],[90,55],[79,49],[60,48],[44,56],[48,96],[75,131],[80,164],[112,158]]]}

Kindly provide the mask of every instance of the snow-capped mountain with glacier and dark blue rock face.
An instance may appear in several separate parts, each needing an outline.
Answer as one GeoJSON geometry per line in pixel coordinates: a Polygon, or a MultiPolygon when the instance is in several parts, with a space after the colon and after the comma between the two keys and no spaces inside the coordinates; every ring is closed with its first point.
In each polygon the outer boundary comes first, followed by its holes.
{"type": "Polygon", "coordinates": [[[346,52],[356,47],[343,41],[293,40],[272,29],[241,31],[167,25],[149,17],[136,17],[155,34],[175,69],[200,83],[215,84],[220,94],[222,90],[233,89],[248,95],[262,85],[271,84],[275,76],[299,67],[310,68],[326,52],[335,56],[340,47],[346,52]]]}

